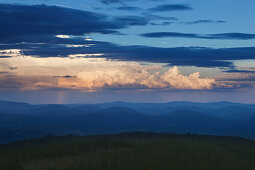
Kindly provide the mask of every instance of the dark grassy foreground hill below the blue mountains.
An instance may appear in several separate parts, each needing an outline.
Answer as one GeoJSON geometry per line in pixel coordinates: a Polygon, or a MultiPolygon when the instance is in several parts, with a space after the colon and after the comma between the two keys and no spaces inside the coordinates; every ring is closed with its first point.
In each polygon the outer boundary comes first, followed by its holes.
{"type": "Polygon", "coordinates": [[[255,141],[123,133],[0,145],[1,170],[254,170],[255,141]]]}

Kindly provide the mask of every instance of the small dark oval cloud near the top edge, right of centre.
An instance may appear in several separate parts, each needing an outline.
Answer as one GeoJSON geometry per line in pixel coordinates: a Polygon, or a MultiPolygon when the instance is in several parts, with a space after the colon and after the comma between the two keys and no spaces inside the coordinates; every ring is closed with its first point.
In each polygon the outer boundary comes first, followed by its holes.
{"type": "Polygon", "coordinates": [[[158,5],[156,7],[148,9],[151,12],[169,12],[169,11],[186,11],[192,10],[193,8],[190,5],[186,4],[165,4],[165,5],[158,5]]]}

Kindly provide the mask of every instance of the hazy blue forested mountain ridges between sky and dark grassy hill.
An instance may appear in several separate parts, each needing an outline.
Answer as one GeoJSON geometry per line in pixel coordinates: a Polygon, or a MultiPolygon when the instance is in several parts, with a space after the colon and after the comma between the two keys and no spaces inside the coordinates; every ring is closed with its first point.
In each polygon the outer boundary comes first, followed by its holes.
{"type": "Polygon", "coordinates": [[[91,135],[126,131],[255,139],[255,105],[230,102],[30,105],[0,101],[0,143],[48,134],[91,135]]]}

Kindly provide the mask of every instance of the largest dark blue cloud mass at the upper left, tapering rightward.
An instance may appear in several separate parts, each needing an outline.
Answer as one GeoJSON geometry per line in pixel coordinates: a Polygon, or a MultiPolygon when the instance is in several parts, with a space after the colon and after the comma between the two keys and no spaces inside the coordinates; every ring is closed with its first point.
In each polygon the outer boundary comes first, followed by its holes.
{"type": "Polygon", "coordinates": [[[127,26],[112,22],[102,14],[59,6],[0,4],[0,14],[0,41],[38,34],[111,34],[127,26]]]}

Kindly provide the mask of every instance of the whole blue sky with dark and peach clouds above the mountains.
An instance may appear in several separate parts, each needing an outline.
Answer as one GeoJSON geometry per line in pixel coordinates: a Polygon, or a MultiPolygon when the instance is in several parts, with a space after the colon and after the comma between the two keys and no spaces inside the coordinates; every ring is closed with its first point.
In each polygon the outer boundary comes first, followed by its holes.
{"type": "Polygon", "coordinates": [[[0,0],[0,100],[255,104],[252,0],[0,0]]]}

